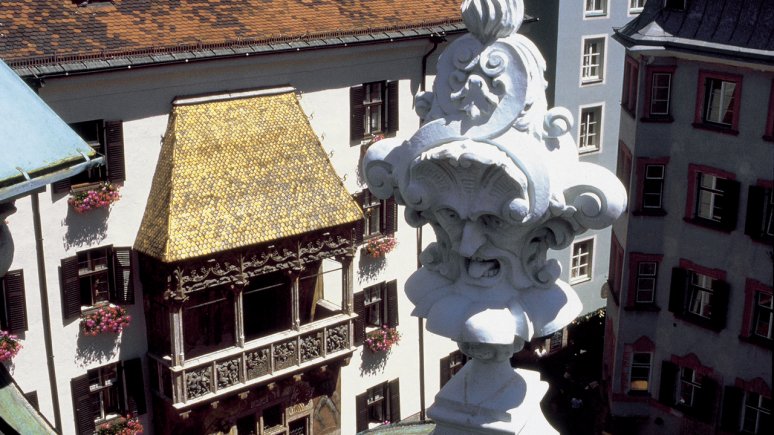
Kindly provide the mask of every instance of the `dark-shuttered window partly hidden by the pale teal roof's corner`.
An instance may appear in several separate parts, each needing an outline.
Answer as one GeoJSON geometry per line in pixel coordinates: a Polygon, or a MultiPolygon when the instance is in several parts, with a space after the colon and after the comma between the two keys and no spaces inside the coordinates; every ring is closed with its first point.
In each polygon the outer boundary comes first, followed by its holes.
{"type": "Polygon", "coordinates": [[[105,164],[81,172],[52,185],[54,193],[68,192],[74,186],[87,186],[101,181],[118,183],[126,180],[124,133],[121,121],[93,120],[70,124],[105,164]]]}

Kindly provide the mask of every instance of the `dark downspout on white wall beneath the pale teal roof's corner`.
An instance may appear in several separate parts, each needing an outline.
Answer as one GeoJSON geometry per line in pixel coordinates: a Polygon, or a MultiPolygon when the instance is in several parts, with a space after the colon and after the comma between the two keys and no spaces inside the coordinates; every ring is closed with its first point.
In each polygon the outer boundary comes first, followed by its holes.
{"type": "Polygon", "coordinates": [[[35,253],[38,257],[38,285],[40,287],[40,309],[43,315],[43,341],[46,345],[46,366],[48,381],[51,384],[51,401],[54,406],[54,427],[62,433],[62,416],[59,411],[59,391],[56,386],[56,366],[54,364],[54,346],[51,340],[51,314],[48,306],[48,287],[46,286],[46,261],[43,255],[43,231],[40,224],[40,201],[38,192],[30,195],[32,200],[32,221],[35,228],[35,253]]]}

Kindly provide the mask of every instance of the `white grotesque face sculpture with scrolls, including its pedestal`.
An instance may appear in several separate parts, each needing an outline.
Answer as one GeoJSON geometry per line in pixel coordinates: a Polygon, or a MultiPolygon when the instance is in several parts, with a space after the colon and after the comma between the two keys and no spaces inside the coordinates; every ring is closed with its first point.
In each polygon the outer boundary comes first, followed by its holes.
{"type": "Polygon", "coordinates": [[[523,15],[522,0],[465,0],[470,34],[417,96],[422,126],[363,159],[369,189],[435,232],[406,282],[413,314],[472,357],[428,409],[438,434],[556,433],[539,406],[547,384],[509,357],[580,314],[548,249],[610,226],[626,206],[614,174],[578,161],[569,111],[548,109],[545,61],[516,34],[523,15]]]}

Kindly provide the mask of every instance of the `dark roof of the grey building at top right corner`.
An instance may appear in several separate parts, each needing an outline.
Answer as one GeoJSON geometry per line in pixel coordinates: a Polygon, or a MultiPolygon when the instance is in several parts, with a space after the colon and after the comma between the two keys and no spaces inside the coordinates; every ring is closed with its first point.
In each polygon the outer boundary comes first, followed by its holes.
{"type": "Polygon", "coordinates": [[[774,0],[688,0],[685,10],[651,0],[616,33],[628,45],[770,60],[774,56],[774,0]]]}

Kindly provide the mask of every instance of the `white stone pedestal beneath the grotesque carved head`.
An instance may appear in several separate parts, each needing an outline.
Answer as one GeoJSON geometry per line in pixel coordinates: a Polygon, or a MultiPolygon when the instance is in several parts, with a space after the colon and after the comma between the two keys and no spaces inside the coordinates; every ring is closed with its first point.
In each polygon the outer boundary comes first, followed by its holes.
{"type": "Polygon", "coordinates": [[[538,372],[474,359],[438,393],[427,416],[435,435],[558,434],[540,410],[547,390],[538,372]]]}

